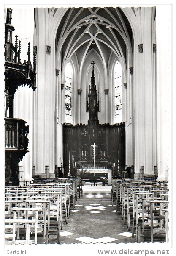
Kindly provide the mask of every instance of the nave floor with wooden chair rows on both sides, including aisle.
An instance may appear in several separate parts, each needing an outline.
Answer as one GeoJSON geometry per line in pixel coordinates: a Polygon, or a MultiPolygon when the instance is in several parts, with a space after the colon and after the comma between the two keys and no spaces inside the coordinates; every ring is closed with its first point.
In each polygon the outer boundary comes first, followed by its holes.
{"type": "Polygon", "coordinates": [[[5,244],[168,242],[167,182],[38,179],[5,191],[5,244]]]}

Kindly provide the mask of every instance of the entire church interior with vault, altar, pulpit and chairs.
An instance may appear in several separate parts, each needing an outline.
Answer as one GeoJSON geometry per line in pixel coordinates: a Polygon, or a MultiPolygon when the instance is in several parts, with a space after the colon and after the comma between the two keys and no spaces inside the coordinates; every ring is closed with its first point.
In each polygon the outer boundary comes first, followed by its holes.
{"type": "Polygon", "coordinates": [[[5,9],[5,244],[169,242],[163,11],[5,9]]]}

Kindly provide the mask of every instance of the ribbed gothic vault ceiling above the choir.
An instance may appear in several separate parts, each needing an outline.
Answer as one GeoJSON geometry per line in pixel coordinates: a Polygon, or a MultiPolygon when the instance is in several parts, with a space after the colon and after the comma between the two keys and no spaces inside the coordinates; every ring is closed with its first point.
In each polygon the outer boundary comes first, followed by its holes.
{"type": "Polygon", "coordinates": [[[56,56],[62,53],[62,70],[73,55],[76,55],[81,75],[85,58],[95,50],[102,61],[107,76],[111,53],[116,55],[126,73],[126,52],[130,62],[133,35],[130,24],[120,7],[118,8],[68,8],[60,22],[56,35],[56,56]]]}

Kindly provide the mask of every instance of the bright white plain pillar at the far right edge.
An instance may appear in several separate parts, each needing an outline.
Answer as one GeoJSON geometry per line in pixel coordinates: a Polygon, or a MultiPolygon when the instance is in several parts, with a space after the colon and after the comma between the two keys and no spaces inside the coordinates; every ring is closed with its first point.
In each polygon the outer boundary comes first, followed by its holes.
{"type": "Polygon", "coordinates": [[[156,20],[156,46],[157,50],[157,180],[171,178],[172,138],[172,90],[171,90],[171,6],[165,8],[158,6],[156,20]],[[164,16],[163,16],[164,15],[164,16]],[[163,19],[167,17],[167,19],[163,19]],[[170,176],[168,177],[168,170],[170,176]]]}

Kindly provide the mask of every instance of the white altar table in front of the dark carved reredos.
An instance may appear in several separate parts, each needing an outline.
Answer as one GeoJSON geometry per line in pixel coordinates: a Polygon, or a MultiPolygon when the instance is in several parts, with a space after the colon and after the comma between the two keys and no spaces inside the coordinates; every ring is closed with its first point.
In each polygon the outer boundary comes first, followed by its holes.
{"type": "Polygon", "coordinates": [[[86,173],[86,176],[88,176],[89,174],[91,175],[91,177],[94,175],[95,173],[95,178],[97,177],[97,174],[99,174],[98,176],[103,177],[105,175],[105,173],[107,173],[107,178],[108,178],[108,185],[112,184],[112,170],[111,169],[78,169],[77,170],[77,176],[81,176],[81,174],[86,173]],[[103,175],[104,174],[104,175],[103,175]]]}

